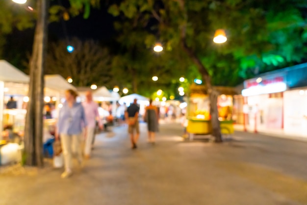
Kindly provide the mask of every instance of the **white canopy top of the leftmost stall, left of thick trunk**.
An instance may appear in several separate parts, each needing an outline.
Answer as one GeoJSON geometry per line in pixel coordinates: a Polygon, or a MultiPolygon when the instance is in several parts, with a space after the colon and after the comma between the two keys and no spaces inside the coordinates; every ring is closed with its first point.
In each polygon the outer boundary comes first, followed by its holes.
{"type": "Polygon", "coordinates": [[[6,60],[0,60],[0,81],[28,83],[29,77],[6,60]]]}

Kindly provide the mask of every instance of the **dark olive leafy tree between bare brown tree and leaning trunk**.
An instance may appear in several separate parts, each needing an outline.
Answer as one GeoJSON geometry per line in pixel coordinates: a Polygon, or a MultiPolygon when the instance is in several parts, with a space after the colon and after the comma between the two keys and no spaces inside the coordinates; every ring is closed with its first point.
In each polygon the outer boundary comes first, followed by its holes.
{"type": "MultiPolygon", "coordinates": [[[[116,74],[114,76],[117,76],[115,85],[126,85],[134,93],[148,97],[157,89],[162,89],[165,96],[174,95],[174,88],[177,90],[174,86],[178,83],[173,82],[179,80],[189,64],[183,62],[180,49],[174,49],[172,54],[153,51],[156,37],[150,28],[151,15],[133,15],[134,8],[131,5],[129,2],[121,4],[131,11],[124,9],[126,16],[121,15],[114,24],[119,33],[116,41],[120,45],[112,63],[112,70],[116,74]],[[158,76],[158,81],[153,82],[153,76],[158,76]]],[[[109,12],[116,16],[119,7],[114,4],[109,7],[109,12]]]]}

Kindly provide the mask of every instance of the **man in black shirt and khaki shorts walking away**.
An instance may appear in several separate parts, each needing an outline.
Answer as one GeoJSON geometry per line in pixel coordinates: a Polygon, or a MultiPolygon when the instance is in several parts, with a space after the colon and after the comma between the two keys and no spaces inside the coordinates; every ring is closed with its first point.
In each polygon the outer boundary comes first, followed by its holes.
{"type": "Polygon", "coordinates": [[[137,99],[134,99],[133,104],[131,104],[128,108],[127,111],[125,112],[125,117],[127,120],[128,124],[128,133],[130,134],[130,141],[132,145],[132,149],[136,149],[136,143],[139,139],[140,135],[140,129],[139,129],[139,111],[140,108],[136,104],[137,99]],[[134,135],[134,131],[136,134],[134,135]]]}

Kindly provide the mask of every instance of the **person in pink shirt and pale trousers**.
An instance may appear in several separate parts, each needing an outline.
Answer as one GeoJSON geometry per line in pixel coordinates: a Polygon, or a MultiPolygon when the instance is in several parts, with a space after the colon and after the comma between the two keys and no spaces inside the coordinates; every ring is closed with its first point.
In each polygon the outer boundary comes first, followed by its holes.
{"type": "Polygon", "coordinates": [[[100,121],[98,112],[98,103],[93,101],[93,95],[91,91],[85,93],[86,101],[82,103],[85,118],[87,122],[87,129],[85,135],[85,146],[84,146],[84,157],[89,159],[91,155],[92,145],[95,138],[96,120],[98,121],[98,126],[102,129],[102,123],[100,121]]]}

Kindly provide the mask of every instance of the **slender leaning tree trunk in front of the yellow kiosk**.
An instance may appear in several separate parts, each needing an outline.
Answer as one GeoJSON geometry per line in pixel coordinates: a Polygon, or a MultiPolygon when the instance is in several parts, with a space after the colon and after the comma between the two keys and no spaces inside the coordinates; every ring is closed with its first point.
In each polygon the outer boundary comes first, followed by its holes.
{"type": "Polygon", "coordinates": [[[181,39],[181,46],[184,51],[190,56],[190,58],[197,65],[199,72],[202,74],[203,79],[205,80],[206,89],[209,95],[210,100],[210,115],[211,115],[211,124],[212,124],[212,135],[215,137],[215,142],[222,142],[220,121],[217,109],[217,97],[218,92],[211,85],[211,77],[209,76],[208,71],[201,62],[201,60],[196,56],[196,54],[190,49],[186,43],[185,39],[181,39]]]}

